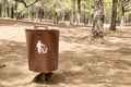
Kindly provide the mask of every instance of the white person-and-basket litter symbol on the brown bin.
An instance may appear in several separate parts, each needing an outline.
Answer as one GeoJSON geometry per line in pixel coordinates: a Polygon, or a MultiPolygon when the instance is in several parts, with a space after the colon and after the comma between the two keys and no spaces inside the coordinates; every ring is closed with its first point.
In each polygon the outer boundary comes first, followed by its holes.
{"type": "Polygon", "coordinates": [[[48,48],[40,40],[36,44],[38,53],[47,53],[48,48]]]}

